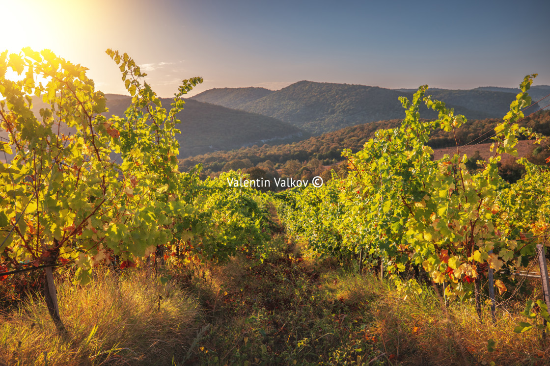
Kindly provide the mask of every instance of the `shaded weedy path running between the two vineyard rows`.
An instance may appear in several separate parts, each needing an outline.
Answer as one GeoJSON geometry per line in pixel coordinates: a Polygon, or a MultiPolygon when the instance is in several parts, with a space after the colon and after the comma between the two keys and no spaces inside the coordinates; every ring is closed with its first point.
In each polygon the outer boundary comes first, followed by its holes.
{"type": "Polygon", "coordinates": [[[273,244],[280,250],[261,264],[212,272],[218,291],[214,287],[205,314],[212,328],[191,361],[317,365],[378,358],[372,364],[383,363],[372,332],[372,295],[344,299],[282,239],[273,244]]]}

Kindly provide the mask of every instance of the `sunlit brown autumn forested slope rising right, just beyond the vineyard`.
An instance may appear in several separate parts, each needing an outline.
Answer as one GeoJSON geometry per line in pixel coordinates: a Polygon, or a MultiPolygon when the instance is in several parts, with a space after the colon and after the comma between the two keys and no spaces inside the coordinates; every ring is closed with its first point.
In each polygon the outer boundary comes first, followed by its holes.
{"type": "MultiPolygon", "coordinates": [[[[501,123],[501,119],[483,119],[469,120],[466,124],[456,129],[455,136],[459,145],[466,145],[474,141],[477,137],[483,136],[475,142],[482,141],[490,137],[494,126],[501,123]]],[[[365,142],[374,136],[378,129],[397,127],[401,120],[387,120],[373,123],[361,124],[345,127],[344,129],[328,132],[321,136],[313,136],[307,140],[294,142],[278,146],[248,147],[233,151],[218,151],[201,156],[194,156],[181,159],[179,162],[180,170],[189,170],[196,164],[202,163],[204,171],[207,174],[217,173],[223,170],[223,167],[230,162],[245,161],[247,164],[258,165],[267,162],[273,163],[277,168],[290,160],[298,160],[301,163],[307,163],[311,159],[318,159],[325,165],[332,164],[342,160],[342,150],[350,148],[356,152],[362,149],[365,142]]],[[[550,111],[539,112],[532,117],[526,118],[520,122],[522,126],[532,127],[534,131],[541,132],[544,135],[550,135],[550,111]]],[[[491,142],[487,140],[485,142],[491,142]]],[[[455,137],[452,132],[437,130],[430,138],[427,145],[436,148],[445,148],[455,146],[455,137]]],[[[471,153],[475,148],[471,149],[471,153]]],[[[229,164],[228,166],[230,166],[229,164]]],[[[233,164],[235,165],[235,164],[233,164]]]]}

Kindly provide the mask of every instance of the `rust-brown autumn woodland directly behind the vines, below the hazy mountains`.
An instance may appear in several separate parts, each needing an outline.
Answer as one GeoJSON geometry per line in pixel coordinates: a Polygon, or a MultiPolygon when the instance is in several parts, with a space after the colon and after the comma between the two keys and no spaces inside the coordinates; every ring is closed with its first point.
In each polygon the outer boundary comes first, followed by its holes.
{"type": "MultiPolygon", "coordinates": [[[[363,148],[365,142],[373,138],[375,132],[379,129],[395,128],[399,126],[401,120],[386,120],[373,123],[366,123],[344,129],[328,132],[321,136],[313,136],[307,140],[289,143],[285,145],[263,145],[243,147],[231,151],[217,151],[204,155],[189,157],[179,160],[179,169],[189,171],[196,164],[203,165],[203,175],[216,176],[221,171],[235,169],[255,168],[256,174],[267,173],[268,175],[282,174],[303,178],[309,175],[321,175],[327,170],[326,165],[333,165],[342,162],[342,150],[349,148],[356,152],[363,148]],[[263,173],[262,173],[263,170],[263,173]],[[305,173],[304,173],[305,172],[305,173]],[[315,174],[314,174],[315,173],[315,174]]],[[[501,119],[483,119],[469,120],[459,129],[456,129],[454,135],[452,132],[445,132],[438,129],[433,132],[427,145],[434,148],[454,147],[466,144],[472,145],[486,140],[496,125],[502,123],[501,119]],[[481,138],[480,138],[481,137],[481,138]],[[476,140],[477,139],[477,140],[476,140]],[[455,142],[456,141],[456,142],[455,142]]],[[[526,117],[519,123],[521,126],[531,127],[533,131],[544,135],[550,135],[550,110],[541,111],[526,117]]],[[[485,142],[490,142],[487,140],[485,142]]],[[[544,149],[538,149],[535,153],[542,154],[535,158],[533,162],[541,163],[542,156],[546,154],[544,149]]],[[[468,156],[478,156],[476,149],[470,149],[468,156]]],[[[475,160],[474,160],[475,162],[475,160]]],[[[343,169],[345,170],[345,169],[343,169]]],[[[522,167],[518,164],[503,164],[501,173],[510,176],[521,176],[522,167]],[[508,173],[504,173],[507,171],[508,173]]],[[[329,178],[330,174],[324,174],[323,178],[329,178]]]]}

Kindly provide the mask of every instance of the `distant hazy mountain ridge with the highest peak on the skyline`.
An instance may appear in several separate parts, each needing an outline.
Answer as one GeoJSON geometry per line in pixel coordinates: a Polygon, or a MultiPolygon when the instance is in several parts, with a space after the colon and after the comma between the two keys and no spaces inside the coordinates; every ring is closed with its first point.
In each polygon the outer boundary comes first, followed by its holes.
{"type": "MultiPolygon", "coordinates": [[[[412,98],[412,91],[377,86],[299,81],[277,91],[224,88],[197,94],[192,99],[268,115],[318,135],[372,121],[402,119],[398,97],[412,98]],[[265,94],[261,96],[261,94],[265,94]]],[[[453,107],[468,119],[503,117],[515,93],[482,90],[430,89],[428,95],[453,107]]],[[[535,108],[535,107],[533,107],[535,108]]],[[[421,109],[422,118],[436,113],[421,109]]]]}

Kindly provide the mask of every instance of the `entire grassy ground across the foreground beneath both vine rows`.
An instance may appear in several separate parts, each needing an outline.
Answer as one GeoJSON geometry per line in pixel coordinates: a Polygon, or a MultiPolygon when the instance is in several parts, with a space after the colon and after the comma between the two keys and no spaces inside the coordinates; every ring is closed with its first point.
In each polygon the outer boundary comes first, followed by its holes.
{"type": "Polygon", "coordinates": [[[67,334],[29,296],[3,315],[0,365],[549,363],[550,337],[513,332],[523,301],[499,308],[493,325],[488,306],[480,321],[473,304],[445,306],[431,285],[404,300],[373,274],[303,257],[282,235],[270,245],[263,263],[246,253],[223,266],[171,258],[167,285],[152,270],[98,271],[85,287],[61,276],[67,334]]]}

